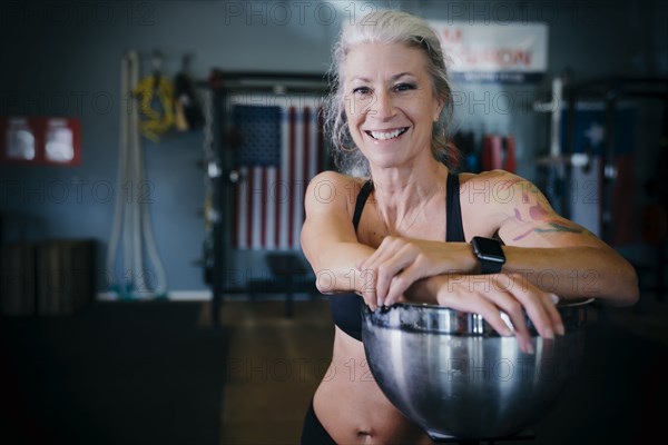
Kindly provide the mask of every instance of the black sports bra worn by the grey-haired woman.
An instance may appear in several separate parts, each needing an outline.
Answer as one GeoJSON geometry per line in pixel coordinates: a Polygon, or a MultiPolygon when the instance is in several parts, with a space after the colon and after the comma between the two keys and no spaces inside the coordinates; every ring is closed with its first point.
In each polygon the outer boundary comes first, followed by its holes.
{"type": "MultiPolygon", "coordinates": [[[[362,217],[364,204],[373,190],[373,182],[367,180],[362,186],[355,212],[353,214],[353,226],[355,231],[362,217]]],[[[459,176],[448,174],[446,214],[445,214],[445,241],[465,243],[464,227],[462,225],[462,209],[459,200],[459,176]]],[[[363,299],[357,294],[336,294],[330,296],[330,308],[334,324],[351,337],[362,342],[362,304],[363,299]]]]}

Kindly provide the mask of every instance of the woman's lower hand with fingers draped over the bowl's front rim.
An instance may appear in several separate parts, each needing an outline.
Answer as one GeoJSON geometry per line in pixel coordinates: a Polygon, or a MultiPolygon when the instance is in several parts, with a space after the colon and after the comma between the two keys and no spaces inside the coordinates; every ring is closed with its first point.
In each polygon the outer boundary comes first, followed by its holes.
{"type": "Polygon", "coordinates": [[[441,306],[482,315],[503,336],[514,334],[524,353],[533,353],[533,343],[523,312],[541,337],[554,338],[554,334],[564,334],[561,316],[554,307],[559,298],[541,290],[520,274],[430,277],[413,286],[406,299],[433,303],[434,296],[441,306]],[[501,312],[508,316],[513,329],[503,320],[501,312]]]}

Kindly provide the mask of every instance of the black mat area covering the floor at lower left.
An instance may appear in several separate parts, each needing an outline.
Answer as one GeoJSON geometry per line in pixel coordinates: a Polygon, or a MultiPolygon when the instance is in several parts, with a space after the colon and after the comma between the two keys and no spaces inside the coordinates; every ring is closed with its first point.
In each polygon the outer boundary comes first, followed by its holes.
{"type": "Polygon", "coordinates": [[[0,442],[218,444],[228,338],[200,305],[0,318],[0,442]]]}

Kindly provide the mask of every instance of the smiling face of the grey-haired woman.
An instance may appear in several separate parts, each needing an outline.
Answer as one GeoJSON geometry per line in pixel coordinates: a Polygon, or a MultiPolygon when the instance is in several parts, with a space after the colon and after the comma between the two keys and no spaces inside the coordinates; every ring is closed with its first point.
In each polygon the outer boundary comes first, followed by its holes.
{"type": "Polygon", "coordinates": [[[372,166],[401,167],[432,157],[432,127],[443,101],[434,96],[420,49],[357,44],[343,66],[343,88],[351,135],[372,166]]]}

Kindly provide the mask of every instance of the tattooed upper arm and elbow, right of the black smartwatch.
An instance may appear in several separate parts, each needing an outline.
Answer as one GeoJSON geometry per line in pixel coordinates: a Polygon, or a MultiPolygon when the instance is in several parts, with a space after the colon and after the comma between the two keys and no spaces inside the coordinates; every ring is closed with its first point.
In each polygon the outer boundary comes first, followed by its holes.
{"type": "Polygon", "coordinates": [[[500,199],[494,204],[504,215],[498,230],[505,244],[502,271],[520,274],[562,299],[597,298],[616,305],[638,300],[636,271],[621,255],[557,215],[530,181],[504,171],[493,174],[497,189],[512,197],[508,204],[500,199]]]}

